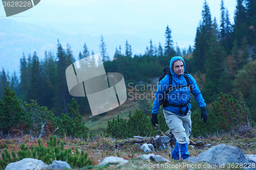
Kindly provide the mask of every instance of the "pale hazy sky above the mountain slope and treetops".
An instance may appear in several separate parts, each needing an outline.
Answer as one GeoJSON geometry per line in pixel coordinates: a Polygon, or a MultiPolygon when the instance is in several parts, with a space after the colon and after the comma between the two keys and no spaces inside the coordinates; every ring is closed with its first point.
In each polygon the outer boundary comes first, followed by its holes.
{"type": "MultiPolygon", "coordinates": [[[[161,45],[164,46],[164,32],[167,25],[172,30],[174,45],[177,42],[181,50],[184,47],[187,48],[189,44],[193,46],[196,29],[202,19],[203,3],[204,0],[41,0],[32,9],[10,17],[6,17],[3,6],[0,6],[0,17],[16,22],[55,28],[74,35],[82,33],[97,36],[98,44],[102,34],[103,37],[108,37],[105,39],[107,47],[116,47],[119,44],[124,47],[125,39],[119,41],[119,34],[126,35],[128,41],[129,37],[139,37],[141,42],[139,40],[129,41],[134,55],[144,54],[146,46],[150,44],[150,39],[152,39],[153,44],[158,46],[161,42],[161,45]],[[113,43],[110,37],[113,40],[117,39],[118,41],[115,41],[117,44],[110,45],[113,43]],[[138,43],[144,47],[136,48],[138,43]]],[[[207,3],[212,19],[216,16],[218,23],[220,23],[221,1],[208,0],[207,3]]],[[[231,23],[233,23],[236,4],[236,0],[224,0],[224,6],[229,11],[231,23]]],[[[55,48],[56,43],[56,40],[52,42],[55,48]]],[[[95,45],[90,46],[92,43],[90,40],[87,40],[86,43],[91,47],[90,50],[94,50],[95,53],[99,52],[98,45],[97,47],[95,45]]],[[[76,58],[79,51],[82,50],[82,46],[83,44],[79,49],[77,47],[73,49],[76,58]]],[[[48,51],[48,49],[45,50],[48,51]]],[[[108,51],[110,57],[113,58],[115,48],[108,48],[108,51]]],[[[124,53],[123,48],[122,53],[124,53]]],[[[20,56],[18,57],[20,58],[20,56]]]]}

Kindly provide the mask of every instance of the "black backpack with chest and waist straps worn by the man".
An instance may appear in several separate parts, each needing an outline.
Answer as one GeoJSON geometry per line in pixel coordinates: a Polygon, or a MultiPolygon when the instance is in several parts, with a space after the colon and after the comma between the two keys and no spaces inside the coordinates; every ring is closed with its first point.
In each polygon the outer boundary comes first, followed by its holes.
{"type": "Polygon", "coordinates": [[[185,80],[186,80],[186,82],[187,82],[187,85],[183,85],[183,86],[181,86],[181,87],[178,86],[178,87],[174,87],[174,88],[173,88],[173,85],[172,85],[172,83],[173,83],[173,75],[170,73],[170,67],[165,67],[164,70],[163,70],[163,75],[160,76],[159,79],[158,79],[158,83],[159,83],[166,75],[169,75],[169,87],[168,87],[168,89],[164,92],[164,98],[163,98],[163,100],[161,101],[160,105],[162,105],[162,108],[163,108],[163,107],[168,107],[168,106],[179,107],[179,111],[180,111],[180,114],[181,114],[181,115],[183,114],[181,108],[183,108],[183,107],[185,107],[185,106],[186,106],[187,108],[186,108],[186,111],[185,111],[184,115],[187,114],[187,112],[188,112],[188,106],[187,106],[187,104],[188,104],[188,103],[191,103],[190,100],[189,100],[187,103],[183,104],[183,105],[174,105],[174,104],[170,104],[170,103],[168,102],[168,100],[166,100],[165,96],[166,96],[166,94],[167,94],[168,92],[172,92],[172,91],[177,90],[178,88],[182,88],[182,87],[189,87],[189,91],[191,91],[191,85],[190,85],[190,82],[189,82],[189,80],[188,80],[188,78],[187,78],[188,72],[185,71],[184,73],[185,73],[185,74],[184,74],[183,76],[184,76],[184,78],[185,78],[185,80]]]}

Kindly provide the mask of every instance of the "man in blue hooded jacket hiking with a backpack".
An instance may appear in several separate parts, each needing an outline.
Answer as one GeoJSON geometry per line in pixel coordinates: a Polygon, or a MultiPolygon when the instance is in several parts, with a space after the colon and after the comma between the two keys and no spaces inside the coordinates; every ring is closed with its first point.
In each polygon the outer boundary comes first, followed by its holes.
{"type": "Polygon", "coordinates": [[[172,89],[169,87],[169,75],[166,75],[158,85],[158,90],[155,93],[155,101],[152,108],[151,122],[154,126],[158,124],[157,113],[162,100],[163,113],[166,124],[173,132],[176,138],[176,145],[172,151],[172,158],[187,159],[190,155],[188,153],[189,136],[191,134],[191,119],[190,119],[190,91],[195,96],[198,105],[201,108],[201,119],[206,122],[208,115],[206,111],[206,104],[196,80],[189,74],[184,73],[185,62],[182,57],[173,57],[170,60],[170,73],[172,74],[172,89]],[[188,79],[190,87],[185,79],[188,79]],[[165,91],[169,91],[165,96],[165,91]]]}

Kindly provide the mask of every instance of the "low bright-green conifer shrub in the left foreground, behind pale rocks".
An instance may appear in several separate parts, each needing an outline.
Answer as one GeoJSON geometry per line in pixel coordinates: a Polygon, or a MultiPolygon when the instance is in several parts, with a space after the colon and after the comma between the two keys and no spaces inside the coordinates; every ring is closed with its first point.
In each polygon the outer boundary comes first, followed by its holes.
{"type": "Polygon", "coordinates": [[[22,143],[20,145],[20,150],[17,152],[18,158],[14,153],[14,150],[11,151],[11,155],[8,153],[7,149],[2,152],[3,160],[0,160],[0,165],[3,169],[11,162],[16,162],[24,158],[33,158],[42,160],[46,164],[51,164],[53,160],[67,161],[70,166],[73,167],[83,167],[92,164],[91,159],[88,158],[88,152],[81,153],[76,147],[76,153],[72,155],[71,149],[64,149],[64,142],[58,139],[56,143],[56,136],[50,135],[50,140],[47,140],[47,148],[41,144],[40,138],[37,139],[38,145],[34,147],[34,144],[31,145],[30,149],[27,145],[22,143]],[[60,147],[58,145],[60,143],[60,147]]]}

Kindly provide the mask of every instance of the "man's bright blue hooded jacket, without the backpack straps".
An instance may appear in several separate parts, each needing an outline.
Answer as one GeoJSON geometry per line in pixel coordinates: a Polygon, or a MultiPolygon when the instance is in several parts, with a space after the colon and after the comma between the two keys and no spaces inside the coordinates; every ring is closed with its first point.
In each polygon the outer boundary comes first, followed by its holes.
{"type": "MultiPolygon", "coordinates": [[[[183,58],[182,57],[173,57],[170,60],[170,72],[173,75],[173,83],[172,83],[173,87],[178,87],[178,86],[181,87],[183,85],[187,85],[187,82],[183,76],[184,71],[185,71],[185,62],[184,62],[183,58]],[[181,76],[176,75],[172,69],[172,63],[177,59],[181,59],[184,63],[184,70],[183,70],[183,74],[181,76]]],[[[200,108],[206,107],[206,104],[204,102],[203,96],[201,94],[201,91],[199,90],[196,80],[189,74],[187,74],[187,77],[188,77],[188,80],[191,85],[191,93],[193,93],[193,95],[195,96],[195,99],[196,99],[199,107],[200,108]]],[[[168,89],[168,86],[169,86],[169,75],[166,75],[159,82],[157,92],[155,93],[155,101],[153,104],[152,113],[158,113],[160,103],[161,103],[162,99],[164,98],[164,92],[168,89]]],[[[170,104],[174,104],[174,105],[185,104],[190,100],[189,87],[182,87],[182,88],[178,88],[177,90],[174,90],[172,92],[168,92],[166,94],[165,98],[168,100],[168,102],[170,104]]],[[[187,106],[188,106],[188,110],[190,110],[191,104],[188,103],[187,106]]],[[[168,107],[164,107],[163,109],[166,109],[166,110],[173,112],[177,115],[181,115],[180,111],[179,111],[179,107],[168,106],[168,107]]],[[[184,114],[186,107],[181,108],[181,110],[184,114]]]]}

